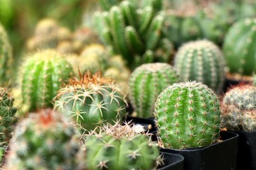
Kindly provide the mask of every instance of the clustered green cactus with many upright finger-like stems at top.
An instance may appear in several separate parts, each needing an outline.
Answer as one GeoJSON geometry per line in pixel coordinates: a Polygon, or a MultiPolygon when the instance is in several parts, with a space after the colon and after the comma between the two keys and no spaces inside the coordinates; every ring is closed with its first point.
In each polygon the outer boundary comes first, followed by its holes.
{"type": "Polygon", "coordinates": [[[168,62],[172,51],[172,44],[163,33],[161,0],[144,3],[140,8],[139,1],[125,0],[110,11],[95,13],[98,32],[130,68],[145,62],[168,62]]]}

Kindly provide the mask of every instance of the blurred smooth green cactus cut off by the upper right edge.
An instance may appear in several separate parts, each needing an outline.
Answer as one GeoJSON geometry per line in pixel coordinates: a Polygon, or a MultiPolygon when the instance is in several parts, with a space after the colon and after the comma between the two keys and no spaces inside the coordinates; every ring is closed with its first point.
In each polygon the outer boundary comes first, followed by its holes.
{"type": "Polygon", "coordinates": [[[256,72],[256,18],[235,22],[225,35],[223,54],[230,73],[249,75],[256,72]]]}

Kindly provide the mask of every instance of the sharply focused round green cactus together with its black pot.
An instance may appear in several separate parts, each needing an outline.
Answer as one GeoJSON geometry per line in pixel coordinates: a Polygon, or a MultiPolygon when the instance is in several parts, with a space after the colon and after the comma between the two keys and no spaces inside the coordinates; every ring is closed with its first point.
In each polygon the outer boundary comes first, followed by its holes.
{"type": "Polygon", "coordinates": [[[220,103],[196,81],[173,84],[155,103],[159,145],[182,154],[185,169],[235,169],[238,135],[220,132],[220,103]]]}

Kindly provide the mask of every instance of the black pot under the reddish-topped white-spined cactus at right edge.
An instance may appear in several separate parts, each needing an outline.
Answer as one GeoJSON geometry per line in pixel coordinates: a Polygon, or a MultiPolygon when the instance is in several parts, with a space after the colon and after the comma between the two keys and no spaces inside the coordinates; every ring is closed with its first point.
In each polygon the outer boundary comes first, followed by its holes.
{"type": "Polygon", "coordinates": [[[238,133],[237,170],[256,170],[256,132],[238,133]]]}

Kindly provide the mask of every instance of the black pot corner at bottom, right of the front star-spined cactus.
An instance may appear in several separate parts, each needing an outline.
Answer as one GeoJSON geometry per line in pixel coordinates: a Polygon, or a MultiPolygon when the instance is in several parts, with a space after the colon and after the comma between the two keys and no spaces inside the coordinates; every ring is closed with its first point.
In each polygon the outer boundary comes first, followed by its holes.
{"type": "Polygon", "coordinates": [[[164,157],[164,165],[158,170],[183,170],[184,157],[181,154],[171,154],[168,152],[160,152],[164,157]]]}

